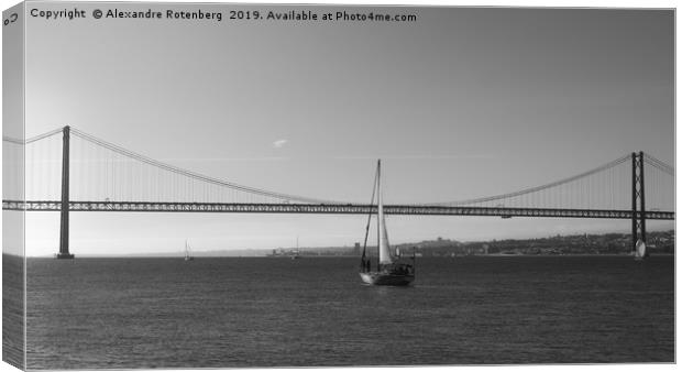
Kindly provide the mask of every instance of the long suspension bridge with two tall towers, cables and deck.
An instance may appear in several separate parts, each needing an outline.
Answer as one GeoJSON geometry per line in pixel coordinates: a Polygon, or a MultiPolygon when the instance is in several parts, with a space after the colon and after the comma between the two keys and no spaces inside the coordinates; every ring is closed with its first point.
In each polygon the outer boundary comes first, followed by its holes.
{"type": "MultiPolygon", "coordinates": [[[[59,211],[59,259],[69,251],[70,211],[360,214],[363,203],[282,194],[207,176],[75,128],[3,136],[3,210],[59,211]],[[62,135],[58,135],[62,134],[62,135]],[[25,180],[25,184],[24,184],[25,180]],[[55,187],[54,185],[61,185],[55,187]]],[[[475,199],[386,205],[387,215],[601,218],[631,220],[632,249],[646,221],[674,219],[674,168],[644,152],[541,186],[475,199]],[[646,172],[645,172],[646,171],[646,172]],[[646,175],[646,188],[645,188],[646,175]]]]}

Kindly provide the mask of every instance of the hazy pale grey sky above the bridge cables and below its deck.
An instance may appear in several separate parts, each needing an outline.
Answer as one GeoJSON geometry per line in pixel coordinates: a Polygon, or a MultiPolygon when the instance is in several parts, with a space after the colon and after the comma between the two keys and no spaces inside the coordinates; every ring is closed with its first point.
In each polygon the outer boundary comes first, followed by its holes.
{"type": "MultiPolygon", "coordinates": [[[[78,8],[87,19],[29,17],[28,136],[69,124],[213,177],[349,201],[369,200],[381,157],[387,204],[514,192],[640,150],[673,164],[672,11],[385,8],[417,21],[306,23],[95,20],[95,8],[150,7],[78,8]]],[[[292,247],[297,236],[301,247],[352,245],[364,223],[74,212],[70,237],[76,254],[180,252],[186,238],[198,250],[292,247]]],[[[465,217],[387,225],[394,243],[629,229],[465,217]]],[[[29,214],[28,237],[29,254],[56,252],[58,215],[29,214]]]]}

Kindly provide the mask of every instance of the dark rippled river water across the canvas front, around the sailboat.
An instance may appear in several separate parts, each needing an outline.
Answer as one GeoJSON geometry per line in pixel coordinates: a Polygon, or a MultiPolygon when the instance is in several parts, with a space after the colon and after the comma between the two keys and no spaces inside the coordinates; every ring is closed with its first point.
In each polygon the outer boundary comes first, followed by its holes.
{"type": "Polygon", "coordinates": [[[31,259],[28,366],[674,361],[674,259],[421,259],[411,287],[358,259],[31,259]]]}

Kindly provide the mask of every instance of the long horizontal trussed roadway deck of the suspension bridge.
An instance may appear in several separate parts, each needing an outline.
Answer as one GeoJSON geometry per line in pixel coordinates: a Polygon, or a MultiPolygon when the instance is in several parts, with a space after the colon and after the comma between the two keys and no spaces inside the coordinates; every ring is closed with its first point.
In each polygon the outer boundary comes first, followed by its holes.
{"type": "MultiPolygon", "coordinates": [[[[2,200],[3,210],[58,211],[58,200],[2,200]]],[[[152,201],[70,201],[69,211],[156,211],[156,212],[235,212],[235,214],[327,214],[367,215],[376,206],[358,204],[222,204],[222,203],[152,203],[152,201]]],[[[631,219],[631,210],[554,209],[505,207],[449,207],[429,205],[385,205],[386,215],[420,216],[492,216],[631,219]]],[[[637,212],[639,217],[639,212],[637,212]]],[[[674,211],[646,211],[647,219],[674,220],[674,211]]]]}

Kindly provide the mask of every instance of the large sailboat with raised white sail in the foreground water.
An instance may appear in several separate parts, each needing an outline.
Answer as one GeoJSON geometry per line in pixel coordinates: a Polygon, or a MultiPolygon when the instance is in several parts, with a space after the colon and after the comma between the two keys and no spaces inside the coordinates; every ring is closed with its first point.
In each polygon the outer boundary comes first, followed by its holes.
{"type": "Polygon", "coordinates": [[[365,284],[371,285],[408,285],[415,281],[415,254],[413,253],[413,264],[399,263],[391,254],[388,232],[386,231],[386,220],[384,218],[381,176],[382,161],[380,160],[376,165],[374,192],[372,193],[372,204],[374,204],[374,195],[376,195],[378,263],[376,264],[375,270],[372,270],[372,262],[366,254],[367,236],[370,233],[370,225],[372,222],[372,214],[370,214],[367,217],[367,227],[365,229],[362,260],[360,262],[360,277],[365,284]]]}

